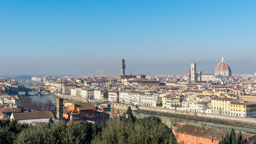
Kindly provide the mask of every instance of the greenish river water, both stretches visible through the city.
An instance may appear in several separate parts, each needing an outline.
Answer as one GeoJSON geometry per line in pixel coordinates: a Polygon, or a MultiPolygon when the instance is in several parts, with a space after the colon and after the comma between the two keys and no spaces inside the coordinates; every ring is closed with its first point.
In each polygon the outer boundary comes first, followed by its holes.
{"type": "MultiPolygon", "coordinates": [[[[25,94],[26,92],[18,92],[19,94],[25,94]]],[[[45,102],[47,100],[51,100],[53,104],[56,104],[56,99],[51,97],[50,95],[44,95],[45,92],[42,91],[41,95],[38,96],[37,92],[29,92],[30,97],[33,101],[40,101],[40,102],[45,102]]],[[[117,109],[113,109],[112,111],[117,112],[117,109]]],[[[123,112],[126,112],[126,110],[119,110],[120,114],[123,112]]],[[[189,125],[196,125],[196,126],[203,126],[203,127],[212,127],[212,128],[218,128],[218,129],[226,129],[226,130],[231,130],[232,128],[236,131],[242,131],[246,133],[252,133],[256,134],[256,128],[248,128],[248,127],[243,127],[243,126],[234,126],[234,125],[228,125],[228,124],[219,124],[217,122],[207,122],[207,121],[202,121],[202,120],[193,120],[193,119],[186,119],[186,118],[178,118],[178,117],[170,117],[170,116],[164,116],[164,115],[155,115],[155,114],[144,114],[144,113],[138,113],[138,112],[133,112],[133,115],[136,116],[137,118],[143,118],[143,117],[148,117],[148,116],[156,116],[159,117],[165,124],[169,127],[172,128],[173,124],[176,124],[177,122],[182,122],[186,123],[189,125]]]]}

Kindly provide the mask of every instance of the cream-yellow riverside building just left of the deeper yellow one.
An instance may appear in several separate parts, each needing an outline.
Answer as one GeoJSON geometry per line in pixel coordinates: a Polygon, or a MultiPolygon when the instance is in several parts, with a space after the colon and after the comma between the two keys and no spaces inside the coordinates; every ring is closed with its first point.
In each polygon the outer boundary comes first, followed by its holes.
{"type": "Polygon", "coordinates": [[[233,98],[229,97],[212,97],[211,110],[214,114],[230,115],[230,102],[233,98]]]}

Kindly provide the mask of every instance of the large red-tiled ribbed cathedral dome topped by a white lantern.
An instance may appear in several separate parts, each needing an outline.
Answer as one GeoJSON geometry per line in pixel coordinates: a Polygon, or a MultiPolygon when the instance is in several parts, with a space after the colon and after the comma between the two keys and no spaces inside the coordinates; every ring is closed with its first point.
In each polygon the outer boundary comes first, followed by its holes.
{"type": "Polygon", "coordinates": [[[221,62],[215,68],[215,75],[230,76],[231,68],[228,63],[222,57],[221,62]]]}

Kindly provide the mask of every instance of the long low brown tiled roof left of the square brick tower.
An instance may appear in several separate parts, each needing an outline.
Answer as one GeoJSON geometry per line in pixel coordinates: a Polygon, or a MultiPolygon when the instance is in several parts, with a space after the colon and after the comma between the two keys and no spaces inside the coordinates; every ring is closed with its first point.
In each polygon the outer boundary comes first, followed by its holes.
{"type": "Polygon", "coordinates": [[[23,120],[23,119],[39,119],[39,118],[54,118],[51,111],[45,112],[29,112],[29,113],[12,113],[14,120],[23,120]]]}

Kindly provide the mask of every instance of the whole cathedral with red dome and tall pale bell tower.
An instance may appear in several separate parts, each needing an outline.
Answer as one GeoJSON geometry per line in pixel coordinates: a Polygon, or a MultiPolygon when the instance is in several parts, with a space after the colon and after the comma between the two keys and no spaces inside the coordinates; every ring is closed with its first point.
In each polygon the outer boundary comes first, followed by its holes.
{"type": "Polygon", "coordinates": [[[196,63],[190,64],[190,69],[184,73],[184,79],[187,81],[233,81],[232,71],[228,63],[222,57],[220,63],[215,68],[214,74],[202,74],[196,72],[196,63]]]}

